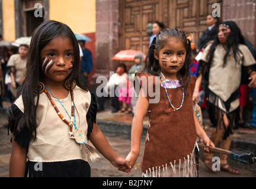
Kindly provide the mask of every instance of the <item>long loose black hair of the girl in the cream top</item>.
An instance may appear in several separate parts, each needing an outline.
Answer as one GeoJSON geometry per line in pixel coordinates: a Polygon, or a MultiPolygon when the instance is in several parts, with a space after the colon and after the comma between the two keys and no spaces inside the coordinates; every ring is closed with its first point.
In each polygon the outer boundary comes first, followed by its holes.
{"type": "MultiPolygon", "coordinates": [[[[71,28],[62,22],[46,21],[34,30],[27,55],[27,71],[23,84],[18,88],[17,97],[22,95],[24,114],[21,116],[18,125],[14,128],[15,133],[21,129],[27,129],[30,136],[36,136],[36,110],[39,103],[39,82],[44,81],[44,73],[41,69],[40,51],[55,37],[67,37],[73,43],[74,63],[72,71],[66,80],[76,84],[84,90],[88,90],[81,82],[79,46],[71,28]],[[35,98],[36,97],[36,98],[35,98]],[[37,99],[35,103],[35,99],[37,99]]],[[[35,137],[36,138],[36,137],[35,137]]]]}

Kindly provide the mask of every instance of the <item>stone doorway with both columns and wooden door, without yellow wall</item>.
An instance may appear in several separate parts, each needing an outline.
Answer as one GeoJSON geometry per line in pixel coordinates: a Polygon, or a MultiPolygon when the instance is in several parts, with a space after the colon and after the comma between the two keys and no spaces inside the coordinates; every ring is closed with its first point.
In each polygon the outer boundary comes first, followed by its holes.
{"type": "Polygon", "coordinates": [[[119,50],[132,48],[146,53],[148,22],[158,20],[169,28],[190,31],[196,43],[207,28],[206,16],[215,10],[215,3],[220,5],[220,20],[235,21],[245,38],[256,45],[256,0],[97,0],[96,65],[91,84],[115,69],[119,61],[111,58],[119,50]]]}

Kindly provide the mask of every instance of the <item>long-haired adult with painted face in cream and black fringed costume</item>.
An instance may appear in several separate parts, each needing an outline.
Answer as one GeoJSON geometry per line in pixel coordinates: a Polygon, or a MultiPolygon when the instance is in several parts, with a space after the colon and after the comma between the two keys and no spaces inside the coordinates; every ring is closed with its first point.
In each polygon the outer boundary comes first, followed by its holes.
{"type": "MultiPolygon", "coordinates": [[[[213,44],[203,51],[199,62],[199,77],[194,89],[193,100],[198,100],[202,78],[206,81],[206,96],[210,108],[217,119],[216,131],[212,133],[215,145],[220,142],[220,148],[229,149],[232,138],[232,128],[235,119],[239,118],[239,86],[241,82],[242,65],[249,73],[249,87],[256,87],[256,71],[252,69],[254,57],[244,42],[240,29],[233,21],[225,21],[219,25],[219,32],[213,44]]],[[[204,155],[206,167],[212,170],[212,154],[204,155]]],[[[239,174],[238,170],[228,165],[227,155],[220,155],[220,170],[231,174],[239,174]]]]}

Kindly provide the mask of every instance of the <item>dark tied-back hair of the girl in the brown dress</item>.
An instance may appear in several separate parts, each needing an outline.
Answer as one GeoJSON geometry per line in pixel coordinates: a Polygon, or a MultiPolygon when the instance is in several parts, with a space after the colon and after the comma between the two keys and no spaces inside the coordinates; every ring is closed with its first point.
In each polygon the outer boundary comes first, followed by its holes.
{"type": "Polygon", "coordinates": [[[178,38],[181,40],[185,47],[186,57],[183,68],[178,71],[177,76],[178,79],[183,81],[185,92],[188,83],[190,83],[190,64],[192,61],[192,53],[191,53],[191,43],[190,40],[187,39],[188,34],[184,31],[180,31],[177,29],[165,29],[159,32],[158,35],[153,39],[151,46],[149,47],[149,51],[146,57],[146,71],[153,76],[159,76],[159,61],[154,57],[154,50],[159,52],[159,50],[170,40],[171,38],[178,38]]]}

